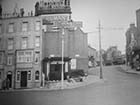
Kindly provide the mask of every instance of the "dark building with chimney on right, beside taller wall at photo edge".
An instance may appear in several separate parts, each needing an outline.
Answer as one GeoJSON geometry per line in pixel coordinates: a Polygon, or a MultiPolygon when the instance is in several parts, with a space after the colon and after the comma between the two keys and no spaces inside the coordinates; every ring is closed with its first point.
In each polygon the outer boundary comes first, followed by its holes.
{"type": "Polygon", "coordinates": [[[126,61],[132,66],[132,68],[134,59],[140,51],[139,38],[138,28],[135,26],[135,24],[130,24],[130,28],[126,32],[126,61]]]}

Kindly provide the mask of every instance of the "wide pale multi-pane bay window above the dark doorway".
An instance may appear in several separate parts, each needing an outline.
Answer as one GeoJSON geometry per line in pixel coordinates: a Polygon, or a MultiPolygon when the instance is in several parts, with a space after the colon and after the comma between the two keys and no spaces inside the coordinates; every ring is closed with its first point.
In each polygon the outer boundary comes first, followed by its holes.
{"type": "Polygon", "coordinates": [[[17,62],[18,63],[30,63],[33,61],[32,51],[18,51],[17,52],[17,62]]]}

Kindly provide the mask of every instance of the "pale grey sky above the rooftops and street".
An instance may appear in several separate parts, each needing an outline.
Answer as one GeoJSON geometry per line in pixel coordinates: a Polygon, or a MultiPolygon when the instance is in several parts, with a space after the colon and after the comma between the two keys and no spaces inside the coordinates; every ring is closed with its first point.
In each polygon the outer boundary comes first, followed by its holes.
{"type": "MultiPolygon", "coordinates": [[[[4,12],[12,11],[15,3],[29,12],[39,0],[0,0],[4,12]]],[[[44,0],[46,1],[46,0],[44,0]]],[[[140,0],[71,0],[72,19],[83,22],[83,31],[88,33],[88,43],[98,50],[98,22],[101,23],[102,48],[118,46],[125,51],[125,32],[130,23],[136,23],[136,10],[140,0]]]]}

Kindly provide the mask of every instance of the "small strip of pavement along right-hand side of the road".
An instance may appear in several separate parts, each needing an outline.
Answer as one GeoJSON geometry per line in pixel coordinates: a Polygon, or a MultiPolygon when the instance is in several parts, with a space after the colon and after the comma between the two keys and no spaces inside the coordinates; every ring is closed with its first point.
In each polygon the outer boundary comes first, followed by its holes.
{"type": "Polygon", "coordinates": [[[132,69],[130,66],[127,65],[121,65],[120,66],[123,71],[126,73],[131,73],[131,74],[140,74],[140,71],[136,71],[136,69],[132,69]]]}

